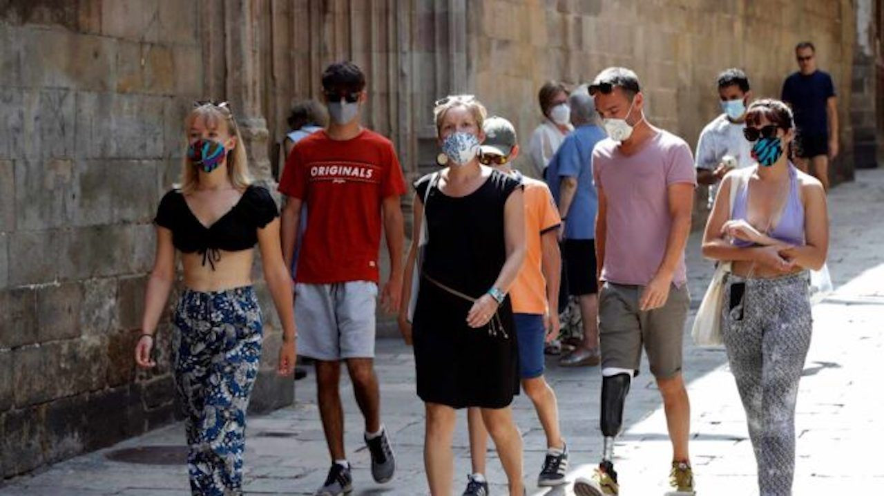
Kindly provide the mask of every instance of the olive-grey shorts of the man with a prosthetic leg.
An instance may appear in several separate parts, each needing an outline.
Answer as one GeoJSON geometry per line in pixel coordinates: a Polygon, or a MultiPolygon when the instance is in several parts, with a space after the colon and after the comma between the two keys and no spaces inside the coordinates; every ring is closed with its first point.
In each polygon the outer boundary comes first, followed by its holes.
{"type": "Polygon", "coordinates": [[[688,285],[672,286],[666,305],[640,311],[644,286],[606,282],[598,294],[598,338],[602,369],[636,370],[642,346],[656,378],[669,378],[682,370],[682,337],[688,317],[688,285]]]}

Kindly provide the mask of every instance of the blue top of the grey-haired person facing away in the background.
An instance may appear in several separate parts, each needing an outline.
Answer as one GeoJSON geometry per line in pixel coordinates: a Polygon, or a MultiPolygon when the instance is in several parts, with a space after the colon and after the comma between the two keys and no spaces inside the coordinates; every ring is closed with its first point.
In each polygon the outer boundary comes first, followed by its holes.
{"type": "Polygon", "coordinates": [[[561,143],[546,169],[546,184],[557,204],[561,179],[577,179],[577,191],[565,221],[565,238],[568,240],[593,240],[596,237],[598,194],[592,182],[592,149],[605,138],[605,131],[599,126],[577,127],[561,143]]]}

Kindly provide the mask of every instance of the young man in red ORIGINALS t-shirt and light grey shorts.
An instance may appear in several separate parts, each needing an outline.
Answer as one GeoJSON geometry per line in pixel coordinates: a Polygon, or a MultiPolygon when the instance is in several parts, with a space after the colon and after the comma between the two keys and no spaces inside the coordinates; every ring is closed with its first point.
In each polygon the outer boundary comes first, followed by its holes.
{"type": "Polygon", "coordinates": [[[299,141],[286,161],[279,191],[283,256],[292,263],[301,205],[307,228],[295,276],[294,312],[301,330],[299,352],[316,360],[319,413],[331,454],[331,469],[316,494],[352,491],[344,451],[344,411],[338,383],[340,362],[354,385],[365,417],[365,441],[371,474],[378,483],[392,478],[395,460],[380,421],[375,355],[377,261],[383,219],[391,274],[381,303],[399,309],[404,228],[400,196],[405,179],[392,143],[360,125],[368,95],[365,76],[356,65],[329,65],[323,73],[328,128],[299,141]]]}

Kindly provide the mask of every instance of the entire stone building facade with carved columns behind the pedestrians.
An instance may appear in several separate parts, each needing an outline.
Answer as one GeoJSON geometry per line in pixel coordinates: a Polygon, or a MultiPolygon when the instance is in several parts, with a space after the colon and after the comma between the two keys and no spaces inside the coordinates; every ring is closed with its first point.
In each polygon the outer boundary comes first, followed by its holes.
{"type": "MultiPolygon", "coordinates": [[[[415,178],[437,154],[439,96],[476,94],[525,139],[544,80],[627,65],[652,122],[693,143],[717,112],[720,69],[743,67],[756,95],[778,95],[792,47],[810,39],[841,103],[834,175],[850,179],[854,164],[876,164],[884,129],[882,14],[881,0],[0,2],[0,475],[174,418],[168,321],[157,370],[135,370],[132,351],[151,218],[195,99],[231,103],[252,171],[272,186],[289,104],[318,95],[324,65],[354,60],[369,80],[364,123],[415,178]]],[[[257,411],[292,401],[274,360],[265,354],[257,411]]]]}

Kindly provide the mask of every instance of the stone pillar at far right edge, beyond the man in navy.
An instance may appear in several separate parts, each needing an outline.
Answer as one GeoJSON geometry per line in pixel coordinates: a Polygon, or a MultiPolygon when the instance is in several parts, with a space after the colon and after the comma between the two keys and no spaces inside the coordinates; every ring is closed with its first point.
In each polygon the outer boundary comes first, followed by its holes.
{"type": "MultiPolygon", "coordinates": [[[[857,0],[857,36],[853,50],[850,123],[853,126],[853,164],[860,169],[878,166],[878,122],[880,107],[875,41],[878,39],[877,14],[880,0],[857,0]]],[[[852,178],[853,171],[850,171],[852,178]]]]}

